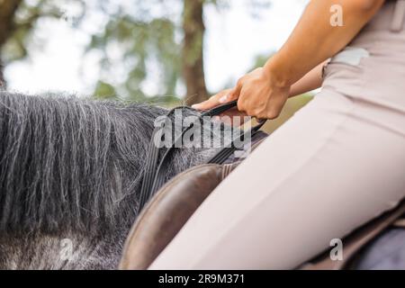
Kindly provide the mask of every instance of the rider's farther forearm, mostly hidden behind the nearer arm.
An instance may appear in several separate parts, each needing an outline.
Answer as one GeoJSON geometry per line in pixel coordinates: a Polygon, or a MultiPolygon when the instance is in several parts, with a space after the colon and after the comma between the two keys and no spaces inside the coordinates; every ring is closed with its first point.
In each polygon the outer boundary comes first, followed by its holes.
{"type": "Polygon", "coordinates": [[[322,85],[322,70],[328,60],[314,67],[310,72],[295,82],[290,88],[290,97],[301,95],[318,89],[322,85]]]}

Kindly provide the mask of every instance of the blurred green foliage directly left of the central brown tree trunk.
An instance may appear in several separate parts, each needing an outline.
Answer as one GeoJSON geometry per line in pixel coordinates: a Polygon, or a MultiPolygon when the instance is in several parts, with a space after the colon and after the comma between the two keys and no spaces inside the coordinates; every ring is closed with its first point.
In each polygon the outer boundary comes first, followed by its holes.
{"type": "Polygon", "coordinates": [[[167,96],[176,94],[181,74],[181,49],[175,39],[178,15],[169,9],[176,2],[134,0],[131,5],[137,9],[132,10],[123,2],[99,2],[95,9],[108,14],[108,22],[92,35],[87,49],[102,52],[100,80],[94,92],[97,97],[120,94],[129,100],[149,101],[152,95],[146,93],[144,85],[153,79],[154,94],[166,96],[160,98],[162,102],[173,99],[167,96]],[[160,14],[151,13],[153,5],[163,8],[160,14]],[[113,77],[117,71],[121,71],[119,79],[113,77]]]}

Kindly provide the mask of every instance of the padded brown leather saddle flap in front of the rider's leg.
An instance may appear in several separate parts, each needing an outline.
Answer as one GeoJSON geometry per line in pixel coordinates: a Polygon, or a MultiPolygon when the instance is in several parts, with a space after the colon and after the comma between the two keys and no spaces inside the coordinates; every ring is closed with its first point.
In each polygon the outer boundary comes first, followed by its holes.
{"type": "Polygon", "coordinates": [[[130,229],[120,269],[148,268],[230,169],[215,164],[195,166],[164,185],[130,229]]]}

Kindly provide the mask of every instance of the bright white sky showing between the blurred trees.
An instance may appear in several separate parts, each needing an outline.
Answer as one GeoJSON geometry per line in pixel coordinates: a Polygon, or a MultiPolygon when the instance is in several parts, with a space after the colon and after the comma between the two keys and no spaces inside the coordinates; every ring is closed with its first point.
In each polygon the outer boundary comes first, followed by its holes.
{"type": "MultiPolygon", "coordinates": [[[[229,0],[228,9],[206,7],[204,61],[209,91],[219,91],[253,66],[257,55],[270,55],[288,38],[302,14],[305,0],[273,0],[258,17],[246,0],[229,0]]],[[[91,94],[100,67],[97,57],[83,57],[88,36],[103,19],[86,19],[85,30],[77,31],[64,20],[39,23],[36,39],[40,49],[31,58],[15,61],[5,68],[8,88],[24,93],[67,91],[91,94]],[[85,69],[85,71],[83,70],[85,69]]],[[[153,94],[153,83],[146,89],[153,94]]]]}

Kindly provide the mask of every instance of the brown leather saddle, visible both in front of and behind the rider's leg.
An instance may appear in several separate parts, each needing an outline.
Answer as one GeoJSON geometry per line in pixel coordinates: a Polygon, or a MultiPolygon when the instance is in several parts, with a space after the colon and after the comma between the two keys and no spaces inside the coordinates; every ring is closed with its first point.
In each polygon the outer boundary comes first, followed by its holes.
{"type": "MultiPolygon", "coordinates": [[[[261,142],[253,145],[252,150],[257,148],[261,142]]],[[[154,193],[148,202],[145,202],[138,219],[130,229],[119,268],[147,269],[175,238],[193,212],[239,163],[221,164],[209,161],[207,164],[194,166],[163,184],[157,193],[154,193]]],[[[147,184],[147,186],[153,187],[153,184],[147,184]]],[[[150,192],[148,194],[150,195],[150,192]]],[[[384,213],[344,238],[343,261],[332,260],[329,257],[329,251],[325,251],[298,268],[338,270],[355,267],[356,258],[362,256],[362,251],[373,243],[375,238],[392,227],[405,229],[404,214],[405,201],[392,211],[384,213]]]]}

